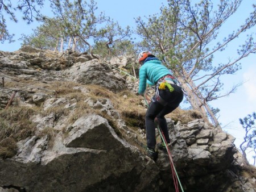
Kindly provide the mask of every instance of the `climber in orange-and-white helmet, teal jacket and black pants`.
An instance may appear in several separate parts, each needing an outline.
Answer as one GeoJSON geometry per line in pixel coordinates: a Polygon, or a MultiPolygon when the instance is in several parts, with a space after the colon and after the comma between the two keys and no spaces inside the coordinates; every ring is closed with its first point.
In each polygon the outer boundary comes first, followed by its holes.
{"type": "MultiPolygon", "coordinates": [[[[146,84],[156,85],[155,95],[148,106],[146,113],[146,137],[147,137],[147,156],[156,159],[155,152],[155,118],[159,127],[163,131],[167,143],[170,143],[166,119],[164,115],[174,111],[183,100],[183,91],[179,82],[172,76],[169,69],[162,62],[151,54],[150,51],[143,51],[138,56],[139,64],[139,95],[144,95],[146,84]]],[[[166,151],[164,143],[158,143],[156,147],[166,151]]]]}

